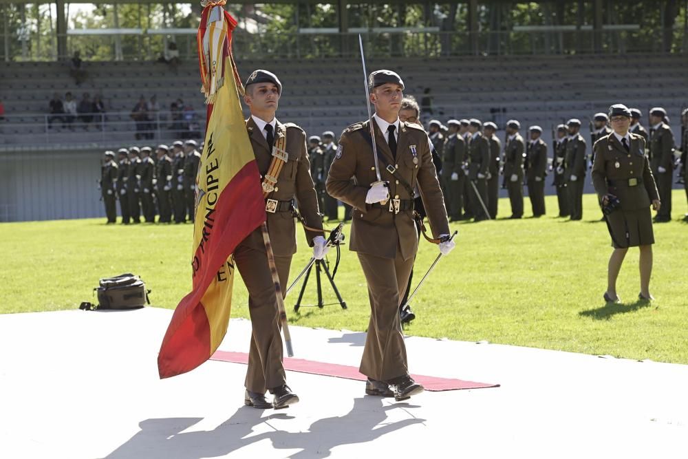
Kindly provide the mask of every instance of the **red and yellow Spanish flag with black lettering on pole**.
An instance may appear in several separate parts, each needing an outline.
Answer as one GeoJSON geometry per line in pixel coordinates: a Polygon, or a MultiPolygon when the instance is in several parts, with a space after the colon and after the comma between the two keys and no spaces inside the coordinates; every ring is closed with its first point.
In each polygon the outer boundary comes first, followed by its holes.
{"type": "Polygon", "coordinates": [[[266,220],[260,173],[239,102],[241,81],[231,53],[237,22],[223,4],[221,0],[204,5],[198,32],[202,91],[209,105],[196,178],[193,287],[175,309],[162,340],[160,378],[189,372],[217,350],[232,306],[232,253],[266,220]]]}

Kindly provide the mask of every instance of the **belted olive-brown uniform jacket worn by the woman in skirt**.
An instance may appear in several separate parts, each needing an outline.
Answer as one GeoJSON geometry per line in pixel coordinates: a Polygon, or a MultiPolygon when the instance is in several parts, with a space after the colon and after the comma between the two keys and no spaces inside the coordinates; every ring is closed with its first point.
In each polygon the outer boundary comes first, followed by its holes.
{"type": "Polygon", "coordinates": [[[600,200],[605,194],[611,193],[621,201],[621,209],[646,209],[652,200],[659,199],[659,194],[649,169],[649,160],[645,156],[645,139],[636,134],[630,134],[630,138],[628,153],[614,134],[595,143],[592,184],[600,200]],[[629,186],[630,178],[642,180],[642,183],[629,186]]]}

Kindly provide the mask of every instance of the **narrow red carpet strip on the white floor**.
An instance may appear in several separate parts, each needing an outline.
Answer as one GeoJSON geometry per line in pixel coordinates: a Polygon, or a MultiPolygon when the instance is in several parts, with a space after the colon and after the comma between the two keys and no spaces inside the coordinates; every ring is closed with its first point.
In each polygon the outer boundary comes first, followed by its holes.
{"type": "MultiPolygon", "coordinates": [[[[231,363],[248,363],[248,354],[245,352],[217,351],[211,360],[231,363]]],[[[358,372],[357,367],[348,365],[338,365],[336,363],[315,362],[303,359],[284,358],[284,368],[292,372],[321,374],[323,376],[334,376],[335,378],[355,379],[365,381],[366,377],[358,372]]],[[[499,384],[474,383],[473,381],[463,381],[462,379],[436,378],[435,376],[422,376],[412,374],[413,379],[422,384],[426,390],[438,392],[442,390],[457,389],[481,389],[483,387],[499,387],[499,384]]]]}

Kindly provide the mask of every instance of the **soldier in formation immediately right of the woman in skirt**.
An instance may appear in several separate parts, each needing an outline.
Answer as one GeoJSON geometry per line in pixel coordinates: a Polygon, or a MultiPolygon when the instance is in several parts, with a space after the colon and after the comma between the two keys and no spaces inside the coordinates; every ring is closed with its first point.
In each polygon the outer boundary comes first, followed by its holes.
{"type": "Polygon", "coordinates": [[[671,180],[674,176],[674,133],[665,122],[667,111],[655,107],[649,111],[649,162],[657,181],[659,200],[662,202],[654,221],[671,220],[671,180]]]}

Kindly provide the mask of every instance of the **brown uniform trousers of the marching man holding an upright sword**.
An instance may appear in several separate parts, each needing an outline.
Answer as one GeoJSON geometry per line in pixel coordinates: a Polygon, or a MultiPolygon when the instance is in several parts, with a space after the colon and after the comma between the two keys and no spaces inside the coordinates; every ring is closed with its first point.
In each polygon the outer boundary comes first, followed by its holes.
{"type": "Polygon", "coordinates": [[[409,373],[399,306],[414,259],[403,259],[400,248],[394,259],[358,253],[370,300],[370,321],[359,371],[377,381],[409,373]]]}

